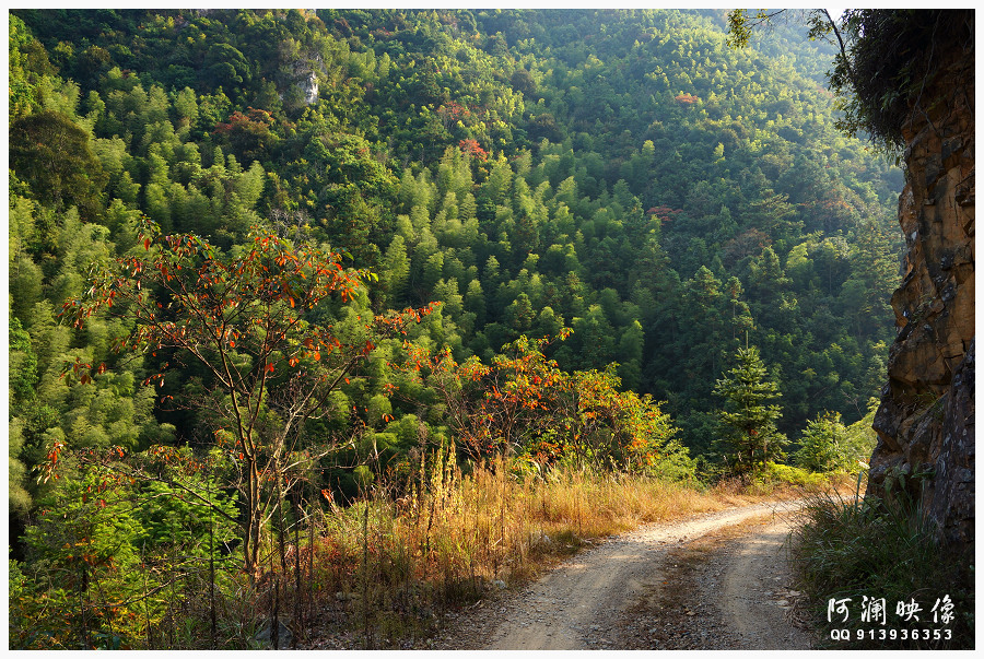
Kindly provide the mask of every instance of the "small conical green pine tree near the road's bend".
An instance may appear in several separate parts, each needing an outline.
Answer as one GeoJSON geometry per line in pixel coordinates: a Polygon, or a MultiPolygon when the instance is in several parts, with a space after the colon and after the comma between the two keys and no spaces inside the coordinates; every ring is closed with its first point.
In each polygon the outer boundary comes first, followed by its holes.
{"type": "Polygon", "coordinates": [[[717,444],[731,472],[746,479],[766,462],[785,458],[787,439],[775,427],[782,412],[769,404],[782,395],[768,378],[758,348],[738,349],[738,365],[717,380],[714,393],[726,401],[718,411],[724,436],[717,444]]]}

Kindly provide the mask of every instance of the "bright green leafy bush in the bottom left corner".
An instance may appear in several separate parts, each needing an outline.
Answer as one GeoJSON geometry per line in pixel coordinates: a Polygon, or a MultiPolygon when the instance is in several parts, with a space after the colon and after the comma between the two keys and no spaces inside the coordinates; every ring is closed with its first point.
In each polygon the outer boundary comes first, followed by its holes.
{"type": "Polygon", "coordinates": [[[26,530],[28,561],[14,573],[13,645],[129,645],[160,621],[161,577],[141,568],[147,530],[133,515],[138,498],[132,486],[92,470],[39,502],[26,530]]]}

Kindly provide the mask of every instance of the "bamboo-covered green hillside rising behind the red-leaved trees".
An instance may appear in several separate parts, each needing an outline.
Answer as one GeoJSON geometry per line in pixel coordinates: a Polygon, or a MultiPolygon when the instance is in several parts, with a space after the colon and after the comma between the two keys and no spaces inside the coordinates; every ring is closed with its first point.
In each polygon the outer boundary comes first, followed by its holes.
{"type": "MultiPolygon", "coordinates": [[[[377,311],[444,303],[424,334],[458,361],[571,327],[562,368],[617,362],[698,449],[746,332],[777,364],[786,433],[859,417],[879,381],[899,175],[834,130],[834,51],[788,27],[734,50],[722,12],[10,21],[12,308],[34,345],[81,283],[63,263],[92,261],[80,238],[122,254],[144,213],[222,248],[266,223],[348,249],[377,311]]],[[[108,334],[87,337],[73,350],[108,334]]],[[[51,429],[30,427],[25,446],[51,429]]]]}

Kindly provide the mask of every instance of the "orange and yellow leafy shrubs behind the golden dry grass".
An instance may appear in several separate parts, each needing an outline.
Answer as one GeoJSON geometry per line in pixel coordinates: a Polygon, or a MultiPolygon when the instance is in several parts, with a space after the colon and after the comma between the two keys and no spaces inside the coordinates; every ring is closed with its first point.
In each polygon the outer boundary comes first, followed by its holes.
{"type": "Polygon", "coordinates": [[[549,342],[520,337],[489,365],[407,344],[408,366],[443,397],[461,448],[477,460],[516,456],[539,470],[561,460],[632,470],[683,452],[648,396],[618,391],[613,368],[561,370],[542,352],[549,342]]]}

